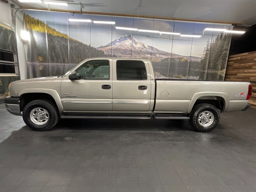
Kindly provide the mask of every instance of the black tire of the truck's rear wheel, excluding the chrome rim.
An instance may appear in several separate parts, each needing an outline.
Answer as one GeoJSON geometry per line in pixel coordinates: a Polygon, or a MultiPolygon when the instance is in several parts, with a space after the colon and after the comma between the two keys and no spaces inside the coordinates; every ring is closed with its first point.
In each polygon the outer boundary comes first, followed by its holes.
{"type": "Polygon", "coordinates": [[[196,129],[196,131],[199,131],[199,132],[212,131],[218,125],[219,121],[220,121],[220,111],[215,106],[208,103],[200,103],[194,106],[190,113],[189,123],[191,124],[192,127],[196,129]],[[206,124],[205,125],[206,127],[201,125],[198,120],[199,115],[204,111],[210,111],[214,116],[214,120],[212,124],[210,124],[209,126],[207,126],[206,124]]]}

